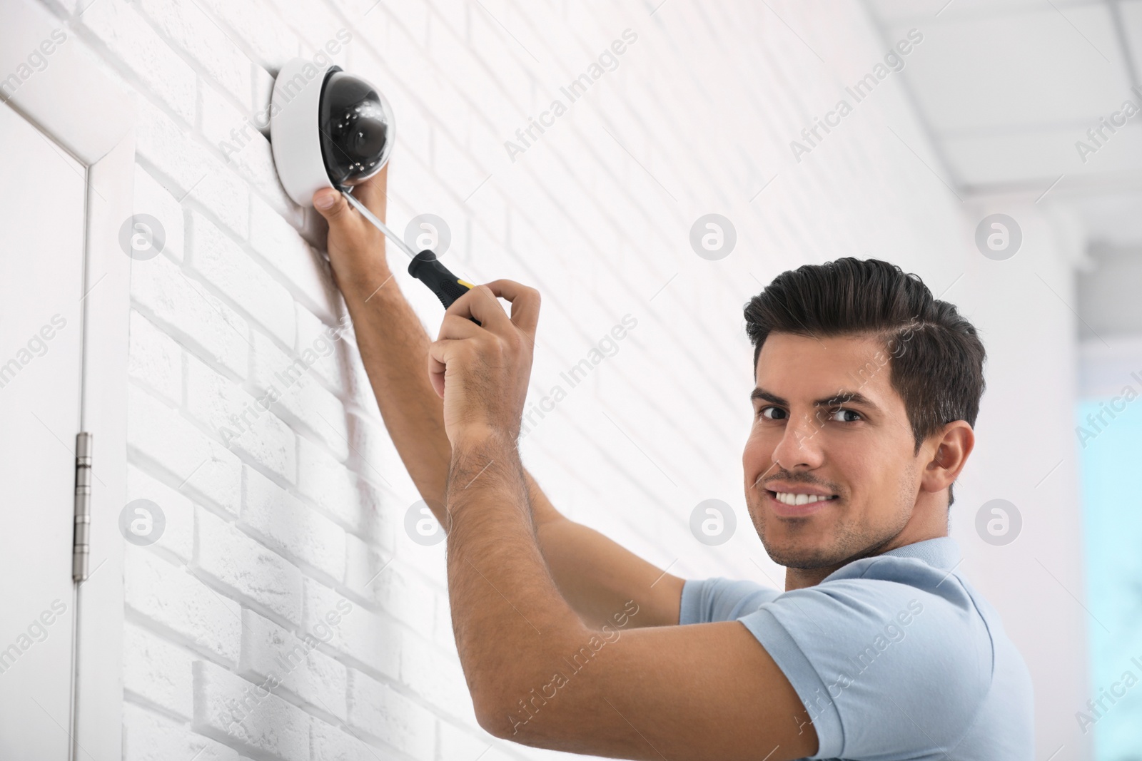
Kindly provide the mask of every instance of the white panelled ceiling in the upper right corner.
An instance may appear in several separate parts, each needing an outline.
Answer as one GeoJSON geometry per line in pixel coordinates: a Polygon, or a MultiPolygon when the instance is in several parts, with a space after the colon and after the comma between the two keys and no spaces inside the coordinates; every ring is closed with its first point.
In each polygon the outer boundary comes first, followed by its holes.
{"type": "Polygon", "coordinates": [[[885,41],[923,32],[904,82],[962,194],[1049,188],[1075,212],[1093,265],[1079,338],[1142,335],[1142,113],[1085,162],[1076,147],[1142,107],[1142,0],[864,1],[885,41]]]}

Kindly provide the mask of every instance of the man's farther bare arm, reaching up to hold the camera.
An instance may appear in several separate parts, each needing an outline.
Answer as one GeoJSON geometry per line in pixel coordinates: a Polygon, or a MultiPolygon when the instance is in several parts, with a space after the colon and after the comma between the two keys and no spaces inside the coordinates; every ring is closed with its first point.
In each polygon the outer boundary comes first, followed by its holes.
{"type": "MultiPolygon", "coordinates": [[[[385,219],[383,169],[353,194],[385,219]]],[[[384,236],[335,191],[319,191],[317,211],[329,221],[329,259],[356,332],[361,359],[388,434],[420,496],[441,526],[451,446],[443,403],[428,379],[429,338],[404,299],[385,257],[384,236]]],[[[403,262],[402,262],[403,264],[403,262]]],[[[560,513],[524,471],[539,547],[560,593],[588,626],[614,624],[629,600],[638,606],[627,626],[678,623],[683,580],[560,513]]]]}

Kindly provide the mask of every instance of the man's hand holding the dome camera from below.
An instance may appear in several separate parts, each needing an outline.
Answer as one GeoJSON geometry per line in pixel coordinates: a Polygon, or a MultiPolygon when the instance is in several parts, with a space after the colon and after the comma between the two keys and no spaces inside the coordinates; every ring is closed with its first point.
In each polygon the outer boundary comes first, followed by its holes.
{"type": "MultiPolygon", "coordinates": [[[[378,219],[385,218],[387,183],[386,164],[353,188],[353,196],[378,219]]],[[[351,296],[368,298],[392,275],[385,259],[385,236],[351,207],[339,191],[317,191],[313,194],[313,207],[329,222],[327,249],[337,286],[346,299],[351,296]]]]}

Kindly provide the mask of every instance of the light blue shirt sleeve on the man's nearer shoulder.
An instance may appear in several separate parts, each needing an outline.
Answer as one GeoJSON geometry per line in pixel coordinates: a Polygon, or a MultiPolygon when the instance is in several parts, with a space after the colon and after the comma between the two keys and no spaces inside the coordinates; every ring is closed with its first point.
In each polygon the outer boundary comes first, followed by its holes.
{"type": "MultiPolygon", "coordinates": [[[[990,688],[994,653],[966,591],[954,580],[943,586],[837,580],[739,617],[809,711],[819,739],[809,758],[940,758],[964,737],[990,688]]],[[[705,586],[694,591],[692,615],[717,609],[716,593],[708,602],[705,586]]]]}

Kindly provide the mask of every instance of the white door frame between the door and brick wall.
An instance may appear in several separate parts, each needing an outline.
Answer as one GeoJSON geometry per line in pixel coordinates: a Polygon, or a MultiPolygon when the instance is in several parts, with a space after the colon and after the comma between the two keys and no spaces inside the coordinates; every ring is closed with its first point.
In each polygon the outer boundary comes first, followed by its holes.
{"type": "Polygon", "coordinates": [[[118,521],[126,499],[131,258],[119,245],[119,230],[134,210],[135,108],[70,21],[35,0],[6,0],[0,76],[17,72],[37,50],[46,54],[46,66],[31,70],[13,91],[0,91],[0,103],[87,167],[80,429],[94,435],[95,487],[89,577],[75,590],[71,758],[120,759],[123,539],[118,521]],[[64,41],[53,44],[53,31],[56,39],[62,31],[64,41]]]}

